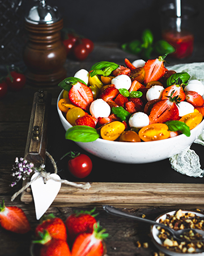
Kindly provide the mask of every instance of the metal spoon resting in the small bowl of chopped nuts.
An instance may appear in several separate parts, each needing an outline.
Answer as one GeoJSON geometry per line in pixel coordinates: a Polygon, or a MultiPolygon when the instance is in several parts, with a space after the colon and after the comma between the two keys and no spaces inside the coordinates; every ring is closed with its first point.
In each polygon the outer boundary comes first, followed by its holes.
{"type": "Polygon", "coordinates": [[[125,217],[125,218],[131,218],[133,220],[138,220],[138,221],[143,221],[146,222],[148,224],[151,225],[156,225],[156,226],[161,226],[162,228],[164,228],[165,230],[168,230],[168,232],[170,232],[172,234],[172,236],[179,241],[184,241],[184,239],[181,238],[181,235],[184,234],[185,232],[189,232],[190,230],[193,231],[194,234],[199,233],[202,235],[202,239],[201,240],[192,240],[190,242],[201,242],[204,241],[204,231],[200,230],[200,229],[180,229],[180,230],[174,230],[169,228],[168,226],[165,226],[162,223],[156,222],[156,221],[152,221],[152,220],[147,220],[146,218],[141,218],[141,217],[137,217],[134,216],[130,213],[126,213],[126,212],[122,212],[121,210],[118,210],[110,205],[103,205],[103,209],[108,212],[111,213],[113,215],[119,216],[119,217],[125,217]]]}

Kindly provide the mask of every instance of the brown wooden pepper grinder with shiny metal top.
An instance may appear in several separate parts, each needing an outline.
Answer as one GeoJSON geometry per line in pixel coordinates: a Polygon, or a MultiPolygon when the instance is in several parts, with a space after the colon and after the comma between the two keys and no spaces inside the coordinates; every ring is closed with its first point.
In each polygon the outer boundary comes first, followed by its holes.
{"type": "Polygon", "coordinates": [[[55,86],[66,78],[66,48],[60,32],[63,19],[56,7],[46,5],[44,0],[37,1],[39,5],[25,16],[28,42],[23,59],[28,68],[27,81],[33,86],[55,86]]]}

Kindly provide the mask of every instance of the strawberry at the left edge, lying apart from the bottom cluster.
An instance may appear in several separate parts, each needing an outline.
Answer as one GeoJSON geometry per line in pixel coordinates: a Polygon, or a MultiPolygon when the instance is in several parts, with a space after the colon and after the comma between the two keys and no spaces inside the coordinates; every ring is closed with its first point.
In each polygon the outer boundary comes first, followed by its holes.
{"type": "Polygon", "coordinates": [[[18,207],[6,207],[4,200],[0,204],[0,224],[2,228],[18,234],[25,234],[31,230],[23,210],[18,207]]]}

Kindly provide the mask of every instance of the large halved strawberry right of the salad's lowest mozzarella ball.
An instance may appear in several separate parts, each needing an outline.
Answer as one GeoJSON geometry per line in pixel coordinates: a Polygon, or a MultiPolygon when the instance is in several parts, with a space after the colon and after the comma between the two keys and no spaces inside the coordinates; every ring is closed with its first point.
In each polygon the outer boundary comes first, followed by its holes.
{"type": "Polygon", "coordinates": [[[177,102],[177,98],[170,96],[167,100],[155,103],[149,115],[150,124],[177,120],[179,118],[179,109],[175,102],[177,102]]]}

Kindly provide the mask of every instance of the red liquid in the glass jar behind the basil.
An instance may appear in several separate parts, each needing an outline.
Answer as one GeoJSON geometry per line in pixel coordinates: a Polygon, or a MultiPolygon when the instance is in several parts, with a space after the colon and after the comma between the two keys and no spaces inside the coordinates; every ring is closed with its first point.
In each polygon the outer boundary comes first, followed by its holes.
{"type": "Polygon", "coordinates": [[[184,59],[192,55],[194,36],[190,32],[165,31],[162,37],[176,48],[176,52],[171,54],[172,57],[184,59]]]}

